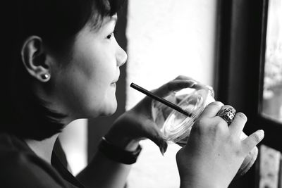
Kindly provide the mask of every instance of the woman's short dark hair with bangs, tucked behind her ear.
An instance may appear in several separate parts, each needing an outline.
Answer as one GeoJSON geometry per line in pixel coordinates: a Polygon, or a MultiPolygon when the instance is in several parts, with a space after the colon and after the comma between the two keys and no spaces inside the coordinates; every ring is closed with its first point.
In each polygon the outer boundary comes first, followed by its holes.
{"type": "Polygon", "coordinates": [[[0,132],[42,140],[61,132],[64,126],[60,120],[66,115],[51,111],[46,101],[32,92],[33,78],[20,55],[25,39],[37,35],[50,49],[68,50],[88,21],[100,27],[122,4],[122,0],[16,0],[2,6],[6,21],[1,25],[7,33],[1,57],[0,132]]]}

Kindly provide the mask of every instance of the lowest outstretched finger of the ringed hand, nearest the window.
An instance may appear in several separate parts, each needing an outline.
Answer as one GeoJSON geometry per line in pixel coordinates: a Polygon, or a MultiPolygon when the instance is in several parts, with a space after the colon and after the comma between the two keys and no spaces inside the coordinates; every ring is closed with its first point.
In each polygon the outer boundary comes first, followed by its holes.
{"type": "Polygon", "coordinates": [[[257,130],[256,132],[252,133],[249,137],[243,140],[243,151],[245,153],[249,153],[259,142],[264,139],[264,131],[257,130]]]}

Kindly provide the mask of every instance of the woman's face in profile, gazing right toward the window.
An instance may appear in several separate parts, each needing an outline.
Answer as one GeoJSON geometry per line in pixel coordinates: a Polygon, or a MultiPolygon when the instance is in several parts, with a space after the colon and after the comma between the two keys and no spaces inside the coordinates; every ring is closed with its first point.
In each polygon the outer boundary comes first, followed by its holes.
{"type": "Polygon", "coordinates": [[[68,61],[58,62],[55,101],[72,118],[94,118],[116,111],[119,67],[127,59],[114,37],[116,19],[116,15],[104,18],[96,30],[87,24],[78,33],[68,61]]]}

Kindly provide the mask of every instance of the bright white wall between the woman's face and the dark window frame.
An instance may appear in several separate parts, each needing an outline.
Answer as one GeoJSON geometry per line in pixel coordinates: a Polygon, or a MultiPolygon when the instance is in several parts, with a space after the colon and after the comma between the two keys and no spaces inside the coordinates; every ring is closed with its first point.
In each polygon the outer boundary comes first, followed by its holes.
{"type": "MultiPolygon", "coordinates": [[[[178,75],[214,84],[216,0],[128,1],[126,109],[144,97],[131,82],[154,89],[178,75]]],[[[128,177],[128,187],[179,187],[171,144],[164,157],[149,140],[128,177]]]]}

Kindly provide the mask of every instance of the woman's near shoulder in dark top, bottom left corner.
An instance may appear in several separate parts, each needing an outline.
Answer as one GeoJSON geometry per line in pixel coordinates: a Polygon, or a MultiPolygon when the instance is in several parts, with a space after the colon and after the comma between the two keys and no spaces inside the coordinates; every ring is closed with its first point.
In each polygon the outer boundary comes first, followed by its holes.
{"type": "Polygon", "coordinates": [[[20,139],[0,133],[0,180],[4,187],[64,187],[51,165],[20,139]]]}

